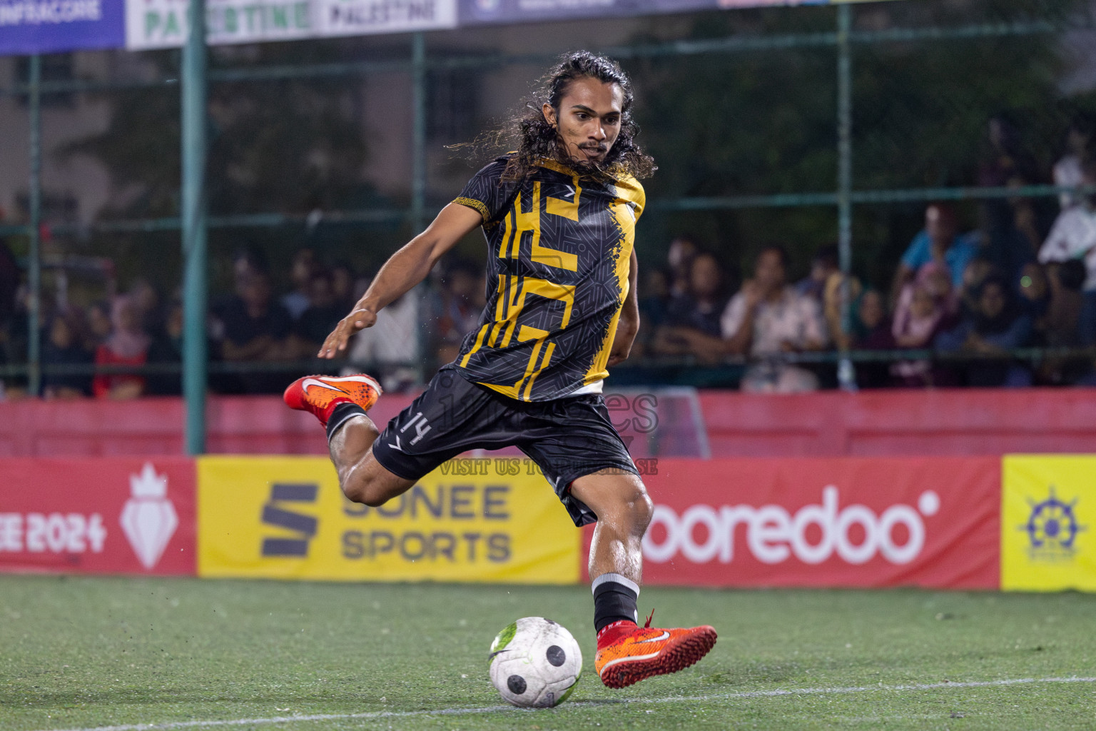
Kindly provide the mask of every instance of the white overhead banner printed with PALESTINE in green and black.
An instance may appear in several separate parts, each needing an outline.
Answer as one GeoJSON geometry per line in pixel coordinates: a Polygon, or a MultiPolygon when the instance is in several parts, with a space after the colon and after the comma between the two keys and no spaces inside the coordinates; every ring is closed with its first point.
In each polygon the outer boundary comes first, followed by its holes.
{"type": "MultiPolygon", "coordinates": [[[[2,1],[2,0],[0,0],[2,1]]],[[[182,46],[187,0],[127,0],[126,47],[182,46]]],[[[207,0],[210,44],[454,27],[456,0],[207,0]]]]}

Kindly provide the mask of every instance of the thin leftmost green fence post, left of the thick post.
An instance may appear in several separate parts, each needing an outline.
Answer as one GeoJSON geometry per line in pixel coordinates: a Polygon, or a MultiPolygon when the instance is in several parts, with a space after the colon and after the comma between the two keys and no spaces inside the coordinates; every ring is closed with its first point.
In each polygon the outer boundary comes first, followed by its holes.
{"type": "Polygon", "coordinates": [[[27,110],[31,117],[31,178],[28,201],[31,213],[31,245],[27,252],[26,366],[27,392],[37,396],[42,390],[42,56],[31,56],[30,96],[27,110]]]}

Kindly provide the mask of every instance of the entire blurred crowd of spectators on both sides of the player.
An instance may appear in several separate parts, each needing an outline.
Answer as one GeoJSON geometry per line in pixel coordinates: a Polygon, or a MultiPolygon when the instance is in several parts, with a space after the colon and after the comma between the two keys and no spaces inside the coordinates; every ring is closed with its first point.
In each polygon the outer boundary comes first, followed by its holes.
{"type": "MultiPolygon", "coordinates": [[[[1096,126],[1078,117],[1063,155],[1046,173],[1007,118],[992,119],[989,132],[993,155],[974,182],[1017,194],[981,202],[970,226],[947,203],[926,205],[924,228],[887,286],[843,275],[836,245],[818,251],[800,281],[790,278],[784,245],[764,245],[738,286],[740,277],[721,260],[722,250],[692,236],[670,243],[662,266],[641,260],[643,327],[635,361],[745,363],[741,388],[755,392],[836,385],[834,358],[803,354],[838,350],[879,355],[857,358],[861,388],[1096,385],[1088,356],[1016,354],[1096,344],[1096,195],[1085,189],[1096,185],[1096,126]],[[1076,190],[1058,199],[1023,195],[1024,186],[1048,179],[1076,190]],[[887,356],[888,351],[912,352],[887,356]]],[[[324,262],[307,248],[277,274],[261,251],[233,256],[231,292],[212,298],[206,323],[215,392],[279,392],[308,369],[302,364],[370,282],[369,274],[324,262]],[[287,290],[277,293],[275,281],[287,282],[287,290]]],[[[21,277],[0,245],[0,365],[26,358],[21,277]]],[[[484,301],[483,266],[447,260],[427,284],[383,309],[375,327],[352,340],[341,361],[344,370],[376,374],[389,391],[418,386],[456,356],[461,340],[476,330],[484,301]]],[[[138,278],[124,294],[85,307],[62,301],[43,307],[42,396],[180,393],[178,293],[164,298],[138,278]],[[92,374],[92,365],[102,367],[92,374]]],[[[9,396],[25,389],[25,378],[3,382],[9,396]]]]}

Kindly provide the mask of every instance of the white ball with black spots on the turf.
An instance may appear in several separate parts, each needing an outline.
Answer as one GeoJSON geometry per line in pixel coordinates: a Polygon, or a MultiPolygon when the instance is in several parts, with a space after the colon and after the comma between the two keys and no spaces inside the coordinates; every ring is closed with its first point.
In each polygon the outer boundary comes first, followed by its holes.
{"type": "Polygon", "coordinates": [[[562,625],[523,617],[491,642],[491,683],[522,708],[551,708],[571,695],[582,674],[582,650],[562,625]]]}

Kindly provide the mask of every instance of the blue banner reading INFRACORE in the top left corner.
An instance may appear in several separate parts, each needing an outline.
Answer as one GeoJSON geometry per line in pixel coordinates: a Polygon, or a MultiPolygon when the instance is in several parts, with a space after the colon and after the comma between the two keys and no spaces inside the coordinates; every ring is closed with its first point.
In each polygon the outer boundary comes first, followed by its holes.
{"type": "Polygon", "coordinates": [[[125,0],[0,0],[0,56],[125,43],[125,0]]]}

